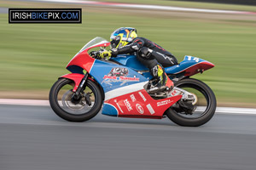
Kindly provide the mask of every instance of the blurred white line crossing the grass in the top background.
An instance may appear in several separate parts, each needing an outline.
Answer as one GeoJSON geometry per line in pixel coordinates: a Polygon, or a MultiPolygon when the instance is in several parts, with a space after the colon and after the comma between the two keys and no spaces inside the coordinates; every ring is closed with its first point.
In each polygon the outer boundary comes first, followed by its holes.
{"type": "Polygon", "coordinates": [[[198,12],[198,13],[256,14],[255,12],[236,11],[236,10],[218,10],[218,9],[207,9],[207,8],[182,8],[182,7],[148,5],[148,4],[108,3],[108,2],[84,1],[84,0],[38,0],[38,1],[52,2],[52,3],[90,4],[90,5],[101,5],[101,6],[119,7],[119,8],[159,9],[159,10],[198,12]]]}

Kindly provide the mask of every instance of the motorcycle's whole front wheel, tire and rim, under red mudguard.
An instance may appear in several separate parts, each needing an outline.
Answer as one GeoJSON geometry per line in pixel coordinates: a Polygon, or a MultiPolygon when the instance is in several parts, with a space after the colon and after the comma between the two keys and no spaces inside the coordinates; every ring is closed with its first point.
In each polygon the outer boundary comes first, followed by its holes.
{"type": "Polygon", "coordinates": [[[87,80],[79,100],[73,100],[74,82],[60,78],[49,92],[49,104],[55,114],[69,122],[90,120],[102,108],[102,94],[95,82],[87,80]]]}

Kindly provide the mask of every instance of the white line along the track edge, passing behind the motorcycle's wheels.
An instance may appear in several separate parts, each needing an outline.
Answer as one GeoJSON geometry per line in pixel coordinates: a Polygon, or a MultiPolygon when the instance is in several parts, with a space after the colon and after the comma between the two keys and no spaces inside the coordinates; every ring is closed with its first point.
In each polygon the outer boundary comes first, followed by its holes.
{"type": "MultiPolygon", "coordinates": [[[[34,105],[44,106],[49,105],[49,100],[39,99],[0,99],[0,105],[34,105]]],[[[223,114],[247,114],[256,115],[256,109],[236,108],[236,107],[218,107],[217,113],[223,114]]]]}

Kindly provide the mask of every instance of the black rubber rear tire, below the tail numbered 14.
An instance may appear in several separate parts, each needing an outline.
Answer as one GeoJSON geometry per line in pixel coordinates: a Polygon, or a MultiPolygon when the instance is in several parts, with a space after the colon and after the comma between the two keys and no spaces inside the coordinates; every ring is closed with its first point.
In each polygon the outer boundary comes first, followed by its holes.
{"type": "Polygon", "coordinates": [[[172,107],[170,107],[166,111],[166,116],[172,122],[175,122],[178,125],[184,126],[184,127],[199,127],[199,126],[205,124],[206,122],[210,121],[210,119],[212,118],[212,116],[215,113],[216,105],[217,105],[216,98],[212,92],[212,89],[209,88],[206,83],[201,82],[196,79],[192,79],[192,78],[183,79],[183,80],[177,82],[175,86],[177,88],[192,87],[192,88],[196,88],[197,90],[199,90],[207,100],[207,108],[202,113],[201,116],[195,117],[195,118],[189,118],[189,117],[183,116],[182,114],[175,111],[172,107]]]}

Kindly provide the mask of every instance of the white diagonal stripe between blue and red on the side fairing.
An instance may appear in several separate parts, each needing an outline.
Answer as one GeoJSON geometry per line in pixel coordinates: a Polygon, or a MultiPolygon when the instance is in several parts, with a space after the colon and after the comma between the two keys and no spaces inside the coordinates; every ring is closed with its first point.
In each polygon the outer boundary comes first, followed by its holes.
{"type": "Polygon", "coordinates": [[[105,93],[105,101],[108,100],[108,99],[116,98],[116,97],[124,95],[124,94],[130,94],[132,92],[142,90],[142,89],[144,89],[143,86],[147,82],[148,81],[138,82],[138,83],[135,83],[135,84],[131,84],[129,86],[125,86],[125,87],[122,87],[122,88],[116,88],[116,89],[113,89],[111,91],[108,91],[107,93],[105,93]]]}

